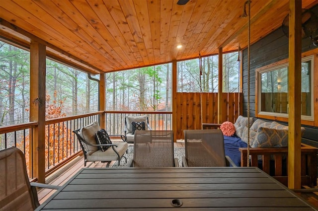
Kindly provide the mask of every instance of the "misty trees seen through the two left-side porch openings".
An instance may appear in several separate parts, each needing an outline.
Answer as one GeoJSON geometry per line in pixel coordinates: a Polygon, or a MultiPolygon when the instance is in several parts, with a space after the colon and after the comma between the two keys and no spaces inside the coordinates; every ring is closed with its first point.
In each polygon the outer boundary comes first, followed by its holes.
{"type": "MultiPolygon", "coordinates": [[[[29,90],[30,53],[0,42],[0,126],[29,122],[29,90]]],[[[97,82],[82,71],[49,59],[46,93],[57,106],[63,104],[62,112],[67,116],[98,110],[97,82]]]]}

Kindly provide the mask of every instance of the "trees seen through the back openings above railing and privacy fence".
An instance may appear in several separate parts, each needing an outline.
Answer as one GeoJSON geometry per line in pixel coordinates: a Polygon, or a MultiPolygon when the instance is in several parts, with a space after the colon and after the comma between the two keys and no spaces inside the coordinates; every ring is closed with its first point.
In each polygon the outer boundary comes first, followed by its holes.
{"type": "MultiPolygon", "coordinates": [[[[238,52],[223,55],[223,92],[239,92],[238,52]]],[[[218,92],[219,56],[177,62],[178,92],[218,92]]],[[[171,64],[106,74],[106,110],[171,111],[171,64]]]]}

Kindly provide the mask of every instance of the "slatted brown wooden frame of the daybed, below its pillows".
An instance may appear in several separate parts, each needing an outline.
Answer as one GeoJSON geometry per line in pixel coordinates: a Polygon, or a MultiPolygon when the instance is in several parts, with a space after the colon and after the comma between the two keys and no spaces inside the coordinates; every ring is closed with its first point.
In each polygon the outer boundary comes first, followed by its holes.
{"type": "MultiPolygon", "coordinates": [[[[247,148],[239,148],[241,166],[247,166],[247,148]]],[[[302,143],[302,185],[308,185],[310,187],[317,186],[317,152],[318,148],[302,143]]],[[[282,175],[283,169],[283,158],[288,157],[288,147],[280,148],[249,148],[250,155],[250,166],[258,166],[258,155],[262,156],[262,170],[267,174],[270,174],[270,160],[275,163],[275,175],[271,175],[273,178],[278,180],[287,186],[288,176],[282,175]],[[272,158],[272,159],[271,159],[272,158]]],[[[287,162],[288,163],[288,162],[287,162]]]]}

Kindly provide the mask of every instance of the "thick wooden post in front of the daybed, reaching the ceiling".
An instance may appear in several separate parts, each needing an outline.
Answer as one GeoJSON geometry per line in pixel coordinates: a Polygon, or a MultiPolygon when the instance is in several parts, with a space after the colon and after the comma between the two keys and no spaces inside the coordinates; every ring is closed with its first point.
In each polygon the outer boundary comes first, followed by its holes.
{"type": "Polygon", "coordinates": [[[301,188],[302,0],[289,1],[288,187],[301,188]]]}

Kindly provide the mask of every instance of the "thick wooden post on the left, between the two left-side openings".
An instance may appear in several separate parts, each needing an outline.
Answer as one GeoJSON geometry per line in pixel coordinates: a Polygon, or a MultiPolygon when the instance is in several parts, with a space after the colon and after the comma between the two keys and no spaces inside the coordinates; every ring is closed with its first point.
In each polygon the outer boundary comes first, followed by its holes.
{"type": "Polygon", "coordinates": [[[30,155],[33,155],[33,174],[45,183],[45,75],[46,49],[45,46],[31,41],[30,46],[30,122],[38,122],[33,129],[30,142],[30,155]]]}

